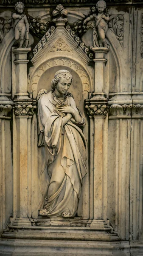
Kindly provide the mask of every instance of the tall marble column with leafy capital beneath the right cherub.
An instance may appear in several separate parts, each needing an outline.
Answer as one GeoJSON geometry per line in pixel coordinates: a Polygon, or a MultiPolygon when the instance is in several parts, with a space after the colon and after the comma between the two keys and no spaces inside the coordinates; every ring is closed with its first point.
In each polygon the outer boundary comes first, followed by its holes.
{"type": "Polygon", "coordinates": [[[90,117],[90,218],[91,227],[107,227],[107,134],[108,88],[105,90],[107,48],[92,48],[95,54],[94,93],[86,100],[90,117]]]}

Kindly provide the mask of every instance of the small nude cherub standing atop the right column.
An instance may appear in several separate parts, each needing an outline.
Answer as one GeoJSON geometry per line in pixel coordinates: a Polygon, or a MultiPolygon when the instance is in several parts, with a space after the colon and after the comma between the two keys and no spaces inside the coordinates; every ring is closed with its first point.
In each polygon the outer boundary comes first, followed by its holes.
{"type": "Polygon", "coordinates": [[[96,12],[95,7],[93,14],[87,17],[83,21],[83,25],[87,24],[86,29],[93,28],[93,47],[108,47],[106,42],[105,35],[108,30],[107,22],[110,20],[108,12],[104,12],[106,9],[106,3],[103,0],[100,0],[96,3],[96,12]],[[93,22],[95,20],[95,22],[93,22]],[[92,21],[92,22],[90,22],[92,21]]]}

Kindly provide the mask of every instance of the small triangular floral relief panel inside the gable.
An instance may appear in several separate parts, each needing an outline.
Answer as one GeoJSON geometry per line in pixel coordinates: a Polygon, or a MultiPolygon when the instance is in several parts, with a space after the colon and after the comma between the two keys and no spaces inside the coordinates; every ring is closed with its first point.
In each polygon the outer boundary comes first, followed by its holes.
{"type": "Polygon", "coordinates": [[[62,38],[59,38],[49,52],[72,52],[62,38]]]}

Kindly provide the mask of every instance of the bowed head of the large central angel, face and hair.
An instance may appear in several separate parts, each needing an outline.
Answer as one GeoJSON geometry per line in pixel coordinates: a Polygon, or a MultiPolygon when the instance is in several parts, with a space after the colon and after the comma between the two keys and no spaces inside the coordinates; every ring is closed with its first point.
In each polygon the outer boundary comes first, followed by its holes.
{"type": "Polygon", "coordinates": [[[67,70],[58,70],[55,73],[54,79],[51,81],[52,91],[57,90],[65,94],[73,81],[73,76],[67,70]]]}

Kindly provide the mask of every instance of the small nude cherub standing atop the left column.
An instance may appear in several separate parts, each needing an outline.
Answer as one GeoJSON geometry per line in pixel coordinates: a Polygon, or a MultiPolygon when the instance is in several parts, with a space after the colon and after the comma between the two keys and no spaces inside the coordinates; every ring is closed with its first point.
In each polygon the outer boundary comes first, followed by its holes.
{"type": "Polygon", "coordinates": [[[19,41],[19,48],[28,47],[29,23],[24,10],[24,4],[17,2],[14,6],[16,12],[12,14],[15,40],[19,41]],[[25,44],[24,44],[25,42],[25,44]],[[24,44],[24,45],[23,45],[24,44]]]}

